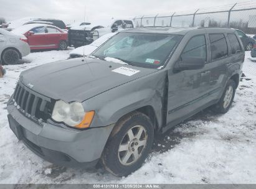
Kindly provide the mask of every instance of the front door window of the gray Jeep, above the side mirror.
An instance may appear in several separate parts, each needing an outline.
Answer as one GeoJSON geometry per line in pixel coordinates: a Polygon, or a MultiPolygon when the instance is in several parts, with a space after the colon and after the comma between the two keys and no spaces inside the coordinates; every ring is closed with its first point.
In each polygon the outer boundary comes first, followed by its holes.
{"type": "Polygon", "coordinates": [[[206,61],[206,39],[204,35],[192,37],[187,43],[181,54],[181,59],[184,60],[190,57],[202,58],[206,61]]]}

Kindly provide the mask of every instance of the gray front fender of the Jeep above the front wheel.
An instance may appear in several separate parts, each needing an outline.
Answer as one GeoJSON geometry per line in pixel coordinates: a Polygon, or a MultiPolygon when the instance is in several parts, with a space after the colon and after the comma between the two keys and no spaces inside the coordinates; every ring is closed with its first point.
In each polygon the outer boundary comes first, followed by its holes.
{"type": "Polygon", "coordinates": [[[166,72],[159,70],[84,101],[85,111],[95,110],[90,127],[113,124],[125,114],[143,106],[151,106],[154,109],[161,126],[165,76],[166,72]]]}

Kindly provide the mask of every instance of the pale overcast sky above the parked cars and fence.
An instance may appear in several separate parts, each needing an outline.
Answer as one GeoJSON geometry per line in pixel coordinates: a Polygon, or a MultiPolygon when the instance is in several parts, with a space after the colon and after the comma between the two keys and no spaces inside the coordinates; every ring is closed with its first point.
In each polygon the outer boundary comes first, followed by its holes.
{"type": "MultiPolygon", "coordinates": [[[[244,0],[248,1],[248,0],[244,0]]],[[[21,17],[62,19],[65,24],[83,21],[108,21],[111,17],[187,11],[222,6],[240,0],[0,0],[0,17],[12,21],[21,17]]],[[[102,24],[102,23],[99,23],[102,24]]]]}

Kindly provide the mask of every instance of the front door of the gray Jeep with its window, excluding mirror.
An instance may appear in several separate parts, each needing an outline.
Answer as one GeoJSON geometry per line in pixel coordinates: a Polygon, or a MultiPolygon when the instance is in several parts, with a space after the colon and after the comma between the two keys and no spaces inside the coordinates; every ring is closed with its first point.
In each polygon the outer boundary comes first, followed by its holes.
{"type": "MultiPolygon", "coordinates": [[[[189,58],[202,58],[207,63],[207,40],[205,34],[191,37],[181,53],[178,62],[189,58]]],[[[177,62],[177,63],[178,63],[177,62]]],[[[211,70],[207,67],[199,70],[168,71],[168,116],[167,124],[176,124],[179,119],[207,103],[211,70]]]]}

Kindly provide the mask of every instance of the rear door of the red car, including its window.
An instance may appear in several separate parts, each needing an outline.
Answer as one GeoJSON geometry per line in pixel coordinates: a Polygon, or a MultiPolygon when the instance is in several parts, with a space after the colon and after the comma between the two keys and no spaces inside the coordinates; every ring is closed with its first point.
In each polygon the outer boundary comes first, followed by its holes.
{"type": "Polygon", "coordinates": [[[62,34],[57,28],[47,26],[45,36],[48,47],[58,48],[61,35],[62,34]]]}

